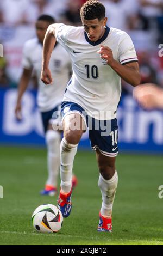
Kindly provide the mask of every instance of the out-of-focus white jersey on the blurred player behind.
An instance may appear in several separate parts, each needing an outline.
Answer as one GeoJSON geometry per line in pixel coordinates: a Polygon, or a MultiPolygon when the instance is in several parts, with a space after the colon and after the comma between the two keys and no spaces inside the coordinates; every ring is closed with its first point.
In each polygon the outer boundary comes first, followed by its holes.
{"type": "Polygon", "coordinates": [[[71,59],[67,51],[57,44],[52,52],[49,69],[53,84],[45,85],[40,80],[42,62],[42,44],[37,38],[26,42],[23,48],[22,65],[26,69],[34,69],[39,82],[37,105],[41,112],[46,112],[59,105],[64,96],[65,88],[70,77],[71,59]]]}

